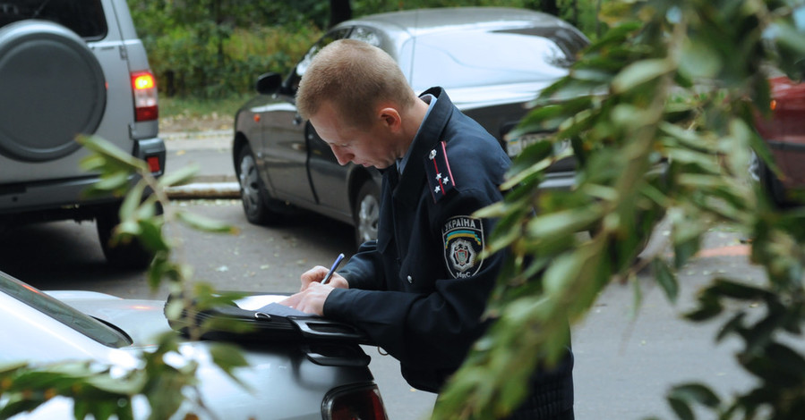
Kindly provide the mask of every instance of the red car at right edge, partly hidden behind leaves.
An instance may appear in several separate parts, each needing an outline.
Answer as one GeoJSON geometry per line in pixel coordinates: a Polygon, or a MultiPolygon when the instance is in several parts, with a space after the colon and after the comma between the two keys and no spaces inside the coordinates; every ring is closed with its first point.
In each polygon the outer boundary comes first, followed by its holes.
{"type": "Polygon", "coordinates": [[[777,206],[805,203],[805,83],[782,75],[769,79],[771,85],[771,114],[758,114],[755,127],[771,149],[778,177],[768,166],[753,156],[750,171],[756,181],[767,189],[777,206]]]}

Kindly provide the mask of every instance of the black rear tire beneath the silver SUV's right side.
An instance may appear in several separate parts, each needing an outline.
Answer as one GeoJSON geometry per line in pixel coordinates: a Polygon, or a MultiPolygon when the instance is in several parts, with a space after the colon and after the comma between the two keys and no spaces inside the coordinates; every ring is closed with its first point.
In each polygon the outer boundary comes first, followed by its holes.
{"type": "MultiPolygon", "coordinates": [[[[157,213],[162,214],[161,206],[157,213]]],[[[145,269],[151,264],[154,253],[143,247],[141,241],[133,238],[127,242],[117,241],[113,244],[112,234],[120,224],[120,206],[106,206],[96,214],[95,224],[98,230],[100,248],[103,249],[107,262],[121,268],[145,269]]]]}

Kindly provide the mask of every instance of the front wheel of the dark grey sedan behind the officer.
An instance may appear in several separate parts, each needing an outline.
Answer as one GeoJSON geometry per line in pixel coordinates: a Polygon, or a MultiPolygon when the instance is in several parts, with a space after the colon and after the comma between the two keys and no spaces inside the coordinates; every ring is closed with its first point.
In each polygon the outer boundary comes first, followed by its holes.
{"type": "Polygon", "coordinates": [[[249,223],[266,225],[276,222],[281,214],[270,207],[271,197],[260,178],[252,147],[244,146],[237,156],[237,180],[244,214],[249,223]]]}

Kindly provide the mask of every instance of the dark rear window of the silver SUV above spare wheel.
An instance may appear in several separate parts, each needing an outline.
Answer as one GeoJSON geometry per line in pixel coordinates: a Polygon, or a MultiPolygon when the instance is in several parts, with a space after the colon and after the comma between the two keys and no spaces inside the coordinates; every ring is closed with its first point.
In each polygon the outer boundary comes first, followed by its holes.
{"type": "Polygon", "coordinates": [[[0,0],[0,28],[15,21],[53,21],[81,38],[107,34],[107,20],[100,0],[0,0]]]}

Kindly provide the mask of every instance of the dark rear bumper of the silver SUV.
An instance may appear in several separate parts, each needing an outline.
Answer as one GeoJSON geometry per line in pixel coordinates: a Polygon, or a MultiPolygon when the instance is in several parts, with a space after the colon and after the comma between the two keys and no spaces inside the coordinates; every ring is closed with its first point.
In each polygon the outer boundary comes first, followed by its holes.
{"type": "MultiPolygon", "coordinates": [[[[160,176],[165,172],[166,150],[162,139],[134,141],[133,155],[142,160],[158,159],[160,176]]],[[[84,191],[98,181],[98,175],[88,173],[78,178],[0,184],[0,217],[14,220],[45,222],[48,220],[90,220],[93,208],[116,203],[122,197],[84,197],[84,191]]]]}

